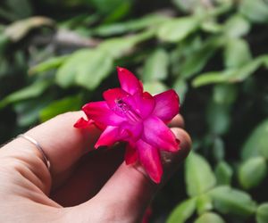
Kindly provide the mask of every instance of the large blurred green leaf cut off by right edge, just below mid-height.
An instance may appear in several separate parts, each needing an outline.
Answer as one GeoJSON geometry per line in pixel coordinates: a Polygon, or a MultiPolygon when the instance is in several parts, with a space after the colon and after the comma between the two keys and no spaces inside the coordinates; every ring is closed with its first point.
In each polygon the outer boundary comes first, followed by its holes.
{"type": "Polygon", "coordinates": [[[264,156],[268,159],[268,120],[263,120],[247,137],[243,145],[242,159],[245,161],[251,157],[264,156]]]}

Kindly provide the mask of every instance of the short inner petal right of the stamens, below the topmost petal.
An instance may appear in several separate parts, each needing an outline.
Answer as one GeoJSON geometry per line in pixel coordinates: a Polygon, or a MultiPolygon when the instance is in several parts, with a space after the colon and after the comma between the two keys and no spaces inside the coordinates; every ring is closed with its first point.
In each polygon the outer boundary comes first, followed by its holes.
{"type": "Polygon", "coordinates": [[[133,97],[138,108],[138,113],[143,119],[147,118],[147,116],[155,109],[154,97],[147,92],[142,94],[137,93],[133,95],[133,97]]]}

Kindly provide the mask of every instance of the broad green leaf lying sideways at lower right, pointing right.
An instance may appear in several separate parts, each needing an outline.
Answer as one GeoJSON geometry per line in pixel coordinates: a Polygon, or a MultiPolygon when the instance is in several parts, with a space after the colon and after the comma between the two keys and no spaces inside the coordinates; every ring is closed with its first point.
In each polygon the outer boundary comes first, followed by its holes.
{"type": "Polygon", "coordinates": [[[255,202],[249,194],[230,186],[218,186],[209,192],[214,200],[214,208],[223,214],[233,214],[247,218],[255,212],[255,202]]]}

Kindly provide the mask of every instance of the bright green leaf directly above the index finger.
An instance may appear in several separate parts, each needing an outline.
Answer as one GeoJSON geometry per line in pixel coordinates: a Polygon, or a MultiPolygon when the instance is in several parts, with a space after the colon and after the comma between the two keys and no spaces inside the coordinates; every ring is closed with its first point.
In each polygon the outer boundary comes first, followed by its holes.
{"type": "Polygon", "coordinates": [[[40,120],[46,121],[54,118],[54,116],[66,111],[78,111],[82,105],[80,95],[68,96],[61,100],[50,103],[39,112],[40,120]]]}

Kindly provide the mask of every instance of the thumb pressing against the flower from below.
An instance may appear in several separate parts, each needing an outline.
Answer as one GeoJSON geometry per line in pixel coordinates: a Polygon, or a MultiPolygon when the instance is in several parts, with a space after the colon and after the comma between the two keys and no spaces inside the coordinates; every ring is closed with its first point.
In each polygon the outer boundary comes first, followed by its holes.
{"type": "Polygon", "coordinates": [[[188,133],[181,128],[172,131],[180,140],[180,151],[162,153],[162,184],[155,185],[140,166],[123,162],[96,197],[75,208],[76,213],[80,212],[81,218],[90,222],[139,222],[157,190],[188,155],[191,145],[188,133]]]}

